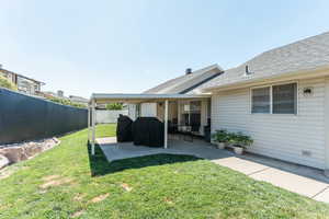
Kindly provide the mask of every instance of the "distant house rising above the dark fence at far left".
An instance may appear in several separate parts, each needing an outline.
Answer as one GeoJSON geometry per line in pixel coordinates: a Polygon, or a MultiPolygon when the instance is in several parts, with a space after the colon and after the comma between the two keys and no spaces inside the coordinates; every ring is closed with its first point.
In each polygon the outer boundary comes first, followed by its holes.
{"type": "Polygon", "coordinates": [[[0,65],[0,76],[9,79],[13,82],[20,92],[36,95],[41,91],[41,87],[44,85],[44,82],[27,78],[25,76],[5,70],[0,65]]]}

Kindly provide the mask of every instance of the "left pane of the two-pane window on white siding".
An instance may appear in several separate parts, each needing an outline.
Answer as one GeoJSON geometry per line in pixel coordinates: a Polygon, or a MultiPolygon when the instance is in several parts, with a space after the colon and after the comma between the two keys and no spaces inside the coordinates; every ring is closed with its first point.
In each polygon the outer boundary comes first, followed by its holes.
{"type": "Polygon", "coordinates": [[[270,113],[270,87],[252,90],[251,113],[270,113]]]}

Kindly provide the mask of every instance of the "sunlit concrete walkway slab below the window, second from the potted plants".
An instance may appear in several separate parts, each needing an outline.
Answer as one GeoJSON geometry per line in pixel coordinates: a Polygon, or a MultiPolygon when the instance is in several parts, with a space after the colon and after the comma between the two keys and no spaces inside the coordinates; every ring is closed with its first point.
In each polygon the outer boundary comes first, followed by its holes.
{"type": "Polygon", "coordinates": [[[250,177],[258,181],[265,181],[279,187],[283,187],[287,191],[298,193],[310,198],[328,187],[327,183],[273,168],[251,174],[250,177]]]}

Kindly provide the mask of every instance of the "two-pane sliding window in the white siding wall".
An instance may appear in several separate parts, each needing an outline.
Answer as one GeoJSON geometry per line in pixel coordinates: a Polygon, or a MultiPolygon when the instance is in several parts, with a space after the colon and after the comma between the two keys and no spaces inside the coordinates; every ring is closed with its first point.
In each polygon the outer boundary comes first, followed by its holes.
{"type": "Polygon", "coordinates": [[[297,114],[297,83],[252,89],[251,113],[297,114]]]}

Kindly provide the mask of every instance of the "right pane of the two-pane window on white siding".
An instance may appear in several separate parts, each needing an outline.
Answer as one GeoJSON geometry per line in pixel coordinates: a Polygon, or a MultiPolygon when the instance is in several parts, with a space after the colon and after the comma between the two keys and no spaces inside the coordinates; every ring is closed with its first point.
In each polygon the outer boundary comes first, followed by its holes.
{"type": "Polygon", "coordinates": [[[273,85],[273,114],[297,113],[297,84],[273,85]]]}

